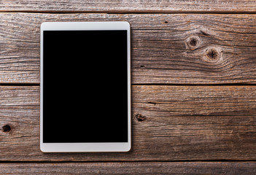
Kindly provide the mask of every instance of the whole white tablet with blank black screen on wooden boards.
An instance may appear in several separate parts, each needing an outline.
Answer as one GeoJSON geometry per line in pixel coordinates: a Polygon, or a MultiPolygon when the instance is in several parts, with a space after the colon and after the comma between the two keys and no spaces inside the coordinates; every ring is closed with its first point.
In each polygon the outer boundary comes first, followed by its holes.
{"type": "Polygon", "coordinates": [[[42,152],[131,149],[130,25],[41,26],[42,152]]]}

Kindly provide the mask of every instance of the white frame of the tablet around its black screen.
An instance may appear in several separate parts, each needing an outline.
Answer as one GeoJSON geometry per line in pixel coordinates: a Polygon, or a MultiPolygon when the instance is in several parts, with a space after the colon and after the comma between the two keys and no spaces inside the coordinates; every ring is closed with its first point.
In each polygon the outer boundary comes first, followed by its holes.
{"type": "Polygon", "coordinates": [[[40,149],[42,152],[128,152],[131,149],[131,29],[125,21],[115,22],[46,22],[41,25],[40,41],[40,149]],[[127,30],[128,66],[128,142],[43,143],[43,32],[75,30],[127,30]]]}

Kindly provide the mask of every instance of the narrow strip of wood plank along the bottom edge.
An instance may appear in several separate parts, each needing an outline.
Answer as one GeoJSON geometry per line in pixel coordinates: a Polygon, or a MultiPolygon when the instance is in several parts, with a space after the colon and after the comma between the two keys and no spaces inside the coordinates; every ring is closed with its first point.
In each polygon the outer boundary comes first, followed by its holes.
{"type": "Polygon", "coordinates": [[[255,162],[0,163],[0,174],[255,174],[255,162]]]}

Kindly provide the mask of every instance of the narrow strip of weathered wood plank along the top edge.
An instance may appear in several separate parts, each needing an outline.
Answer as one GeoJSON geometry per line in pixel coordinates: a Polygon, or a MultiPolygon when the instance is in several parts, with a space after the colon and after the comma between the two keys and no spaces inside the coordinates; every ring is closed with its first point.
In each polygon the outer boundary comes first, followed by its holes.
{"type": "Polygon", "coordinates": [[[11,1],[0,2],[0,12],[255,12],[256,1],[241,0],[61,0],[61,1],[11,1]]]}

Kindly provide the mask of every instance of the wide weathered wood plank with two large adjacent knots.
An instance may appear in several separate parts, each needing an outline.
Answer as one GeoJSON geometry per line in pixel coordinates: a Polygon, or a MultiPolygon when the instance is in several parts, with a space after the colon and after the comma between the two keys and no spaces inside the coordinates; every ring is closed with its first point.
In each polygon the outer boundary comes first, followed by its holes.
{"type": "Polygon", "coordinates": [[[106,20],[131,23],[133,84],[256,82],[256,15],[0,13],[0,18],[0,83],[39,83],[40,23],[106,20]]]}

